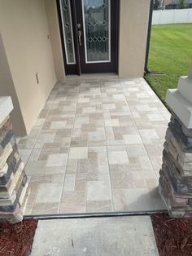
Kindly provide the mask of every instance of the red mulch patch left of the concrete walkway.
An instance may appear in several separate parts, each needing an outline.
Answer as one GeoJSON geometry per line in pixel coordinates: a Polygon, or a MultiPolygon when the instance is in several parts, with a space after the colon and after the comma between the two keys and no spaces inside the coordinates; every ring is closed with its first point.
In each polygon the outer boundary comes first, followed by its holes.
{"type": "Polygon", "coordinates": [[[28,256],[32,249],[37,220],[15,225],[0,223],[0,256],[28,256]]]}

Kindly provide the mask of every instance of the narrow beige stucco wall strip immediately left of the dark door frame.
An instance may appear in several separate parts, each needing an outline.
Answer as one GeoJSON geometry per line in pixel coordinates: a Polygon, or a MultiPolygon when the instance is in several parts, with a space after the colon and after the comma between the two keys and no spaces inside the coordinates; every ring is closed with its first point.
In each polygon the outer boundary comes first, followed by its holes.
{"type": "Polygon", "coordinates": [[[65,77],[65,71],[59,31],[57,4],[55,0],[45,0],[45,4],[46,17],[50,33],[50,44],[54,58],[55,73],[57,80],[63,80],[63,78],[65,77]]]}

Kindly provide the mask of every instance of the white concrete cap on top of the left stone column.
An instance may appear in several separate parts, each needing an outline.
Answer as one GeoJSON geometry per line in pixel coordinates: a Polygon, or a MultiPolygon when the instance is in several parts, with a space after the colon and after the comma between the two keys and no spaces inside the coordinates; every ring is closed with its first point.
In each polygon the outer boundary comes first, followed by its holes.
{"type": "Polygon", "coordinates": [[[0,97],[0,124],[13,110],[13,104],[10,96],[0,97]]]}

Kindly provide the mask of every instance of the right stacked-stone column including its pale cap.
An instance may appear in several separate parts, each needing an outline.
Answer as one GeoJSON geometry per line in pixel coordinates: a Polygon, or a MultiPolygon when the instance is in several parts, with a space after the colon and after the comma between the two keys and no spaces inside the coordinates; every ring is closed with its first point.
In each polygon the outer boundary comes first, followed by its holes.
{"type": "Polygon", "coordinates": [[[169,89],[172,110],[165,136],[159,193],[171,217],[192,216],[192,65],[188,77],[180,77],[178,88],[169,89]]]}

